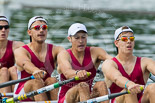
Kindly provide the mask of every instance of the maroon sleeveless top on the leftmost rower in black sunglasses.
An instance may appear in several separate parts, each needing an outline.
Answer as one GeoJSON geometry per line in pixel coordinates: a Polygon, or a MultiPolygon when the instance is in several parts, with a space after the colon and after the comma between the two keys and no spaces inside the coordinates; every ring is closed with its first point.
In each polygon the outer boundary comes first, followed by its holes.
{"type": "Polygon", "coordinates": [[[8,40],[7,48],[4,56],[0,59],[0,67],[12,67],[15,64],[14,54],[13,54],[13,41],[8,40]]]}

